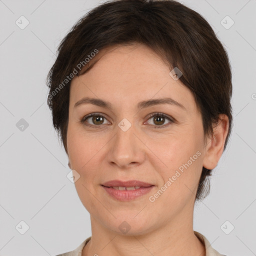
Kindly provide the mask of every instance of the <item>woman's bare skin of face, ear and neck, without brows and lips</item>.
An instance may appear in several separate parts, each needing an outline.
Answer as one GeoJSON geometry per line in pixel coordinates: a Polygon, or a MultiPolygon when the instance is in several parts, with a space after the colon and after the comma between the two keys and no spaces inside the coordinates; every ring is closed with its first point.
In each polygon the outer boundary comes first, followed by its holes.
{"type": "Polygon", "coordinates": [[[80,175],[75,188],[91,219],[92,237],[82,256],[205,255],[193,233],[194,200],[202,166],[213,169],[222,154],[227,116],[220,115],[214,137],[204,141],[191,92],[169,75],[169,67],[154,51],[142,44],[115,46],[101,50],[97,58],[88,72],[72,79],[69,98],[69,167],[80,175]],[[84,96],[109,101],[113,110],[93,104],[74,107],[84,96]],[[136,109],[141,100],[167,96],[185,109],[170,104],[136,109]],[[80,122],[95,112],[106,118],[80,122]],[[175,121],[149,117],[157,112],[175,121]],[[118,126],[123,118],[131,123],[126,131],[118,126]],[[159,123],[165,127],[155,128],[159,123]],[[200,156],[154,202],[149,201],[196,151],[200,156]],[[148,194],[123,202],[100,185],[112,179],[136,179],[155,186],[148,194]],[[125,234],[118,228],[123,221],[131,227],[125,234]]]}

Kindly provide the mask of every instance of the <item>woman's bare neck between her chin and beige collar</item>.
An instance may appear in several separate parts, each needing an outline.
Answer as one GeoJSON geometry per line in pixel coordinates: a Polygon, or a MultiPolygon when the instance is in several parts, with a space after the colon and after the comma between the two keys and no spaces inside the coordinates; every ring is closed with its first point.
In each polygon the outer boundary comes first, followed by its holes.
{"type": "MultiPolygon", "coordinates": [[[[191,215],[191,214],[190,214],[191,215]]],[[[193,214],[192,214],[193,216],[193,214]]],[[[204,244],[193,232],[192,218],[178,215],[168,224],[152,227],[146,233],[120,234],[102,226],[91,216],[92,235],[82,250],[82,256],[161,255],[205,256],[204,244]]]]}

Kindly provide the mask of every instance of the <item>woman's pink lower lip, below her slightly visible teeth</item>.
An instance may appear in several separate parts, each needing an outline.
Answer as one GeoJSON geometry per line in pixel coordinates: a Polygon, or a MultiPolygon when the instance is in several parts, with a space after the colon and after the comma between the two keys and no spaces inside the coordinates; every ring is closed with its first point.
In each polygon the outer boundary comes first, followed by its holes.
{"type": "Polygon", "coordinates": [[[148,187],[140,187],[134,190],[118,190],[118,189],[115,189],[112,187],[106,187],[103,185],[102,187],[110,196],[114,197],[115,199],[119,201],[129,201],[148,193],[152,189],[153,185],[148,187]]]}

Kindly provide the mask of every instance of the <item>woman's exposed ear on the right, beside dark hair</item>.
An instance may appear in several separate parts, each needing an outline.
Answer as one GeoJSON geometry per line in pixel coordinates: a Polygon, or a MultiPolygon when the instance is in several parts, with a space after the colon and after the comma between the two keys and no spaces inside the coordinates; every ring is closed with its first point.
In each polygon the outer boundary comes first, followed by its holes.
{"type": "Polygon", "coordinates": [[[206,169],[213,169],[217,166],[218,160],[223,152],[225,139],[228,132],[228,117],[220,114],[217,124],[213,126],[213,135],[207,139],[205,154],[202,165],[206,169]]]}

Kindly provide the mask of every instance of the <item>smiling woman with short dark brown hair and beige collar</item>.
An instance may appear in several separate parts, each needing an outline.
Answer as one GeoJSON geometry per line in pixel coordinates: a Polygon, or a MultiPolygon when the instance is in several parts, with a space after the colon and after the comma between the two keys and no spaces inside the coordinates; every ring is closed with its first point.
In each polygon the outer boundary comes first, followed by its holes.
{"type": "Polygon", "coordinates": [[[61,41],[48,86],[92,233],[60,255],[223,255],[193,230],[232,126],[228,56],[202,16],[99,5],[61,41]]]}

